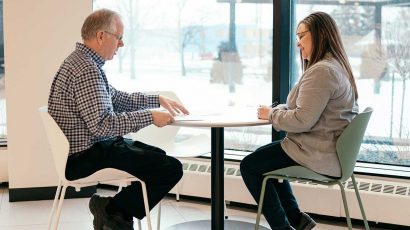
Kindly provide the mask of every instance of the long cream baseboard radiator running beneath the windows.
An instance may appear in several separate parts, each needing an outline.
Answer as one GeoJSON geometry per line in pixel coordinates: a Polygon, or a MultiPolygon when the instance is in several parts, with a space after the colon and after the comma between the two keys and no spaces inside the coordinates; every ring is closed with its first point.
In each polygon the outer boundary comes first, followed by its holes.
{"type": "MultiPolygon", "coordinates": [[[[171,193],[194,197],[211,196],[211,163],[209,159],[180,159],[184,176],[171,193]]],[[[225,161],[225,200],[243,204],[255,204],[239,171],[239,163],[225,161]]],[[[369,221],[410,226],[410,182],[389,181],[380,178],[356,176],[356,182],[369,221]]],[[[340,188],[319,184],[291,181],[300,209],[309,213],[345,217],[340,188]]],[[[344,183],[350,216],[362,219],[352,181],[344,183]]]]}

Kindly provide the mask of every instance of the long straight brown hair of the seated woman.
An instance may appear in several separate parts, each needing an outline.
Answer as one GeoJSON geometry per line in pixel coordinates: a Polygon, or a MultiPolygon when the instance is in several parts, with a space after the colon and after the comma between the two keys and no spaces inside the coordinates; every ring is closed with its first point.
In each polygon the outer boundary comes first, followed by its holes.
{"type": "Polygon", "coordinates": [[[302,70],[305,71],[310,66],[322,60],[326,53],[331,53],[346,71],[357,100],[356,81],[353,77],[352,67],[347,59],[336,22],[327,13],[315,12],[300,21],[298,26],[300,24],[304,24],[310,31],[313,44],[312,55],[309,61],[303,60],[301,55],[303,63],[302,70]]]}

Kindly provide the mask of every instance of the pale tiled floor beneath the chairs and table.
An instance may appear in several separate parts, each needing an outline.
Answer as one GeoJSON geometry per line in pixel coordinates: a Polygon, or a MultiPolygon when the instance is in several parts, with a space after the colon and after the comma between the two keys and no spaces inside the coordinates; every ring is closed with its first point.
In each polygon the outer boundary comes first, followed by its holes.
{"type": "MultiPolygon", "coordinates": [[[[102,195],[112,195],[115,191],[98,189],[102,195]]],[[[1,230],[44,230],[47,227],[52,201],[12,202],[8,197],[8,189],[0,186],[0,229],[1,230]]],[[[92,215],[88,210],[89,199],[67,199],[64,201],[59,229],[61,230],[92,230],[92,215]]],[[[179,202],[171,196],[162,201],[161,229],[192,220],[210,218],[210,206],[206,202],[181,200],[179,202]]],[[[255,221],[255,211],[249,209],[233,208],[228,206],[229,218],[247,222],[255,221]]],[[[152,212],[153,227],[156,229],[157,212],[152,212]]],[[[326,223],[318,221],[315,229],[347,229],[345,223],[326,223]]],[[[135,229],[138,229],[137,222],[135,229]]],[[[147,229],[144,225],[143,229],[147,229]]],[[[262,225],[267,226],[262,220],[262,225]]],[[[361,228],[355,228],[361,229],[361,228]]]]}

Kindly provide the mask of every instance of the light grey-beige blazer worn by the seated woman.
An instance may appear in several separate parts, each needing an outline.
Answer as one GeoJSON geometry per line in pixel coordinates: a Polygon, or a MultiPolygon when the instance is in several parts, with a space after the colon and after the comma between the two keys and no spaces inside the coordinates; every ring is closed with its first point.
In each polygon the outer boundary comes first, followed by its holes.
{"type": "Polygon", "coordinates": [[[287,132],[281,145],[289,157],[317,173],[340,177],[336,141],[357,113],[347,73],[328,53],[303,73],[269,120],[275,130],[287,132]]]}

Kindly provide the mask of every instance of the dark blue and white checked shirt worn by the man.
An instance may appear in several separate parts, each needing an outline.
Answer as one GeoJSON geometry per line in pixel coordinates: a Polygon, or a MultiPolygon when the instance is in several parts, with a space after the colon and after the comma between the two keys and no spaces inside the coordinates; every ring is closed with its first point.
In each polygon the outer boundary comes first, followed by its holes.
{"type": "Polygon", "coordinates": [[[158,95],[126,93],[108,84],[105,60],[84,44],[64,60],[51,85],[48,112],[70,143],[69,154],[152,124],[158,95]]]}

